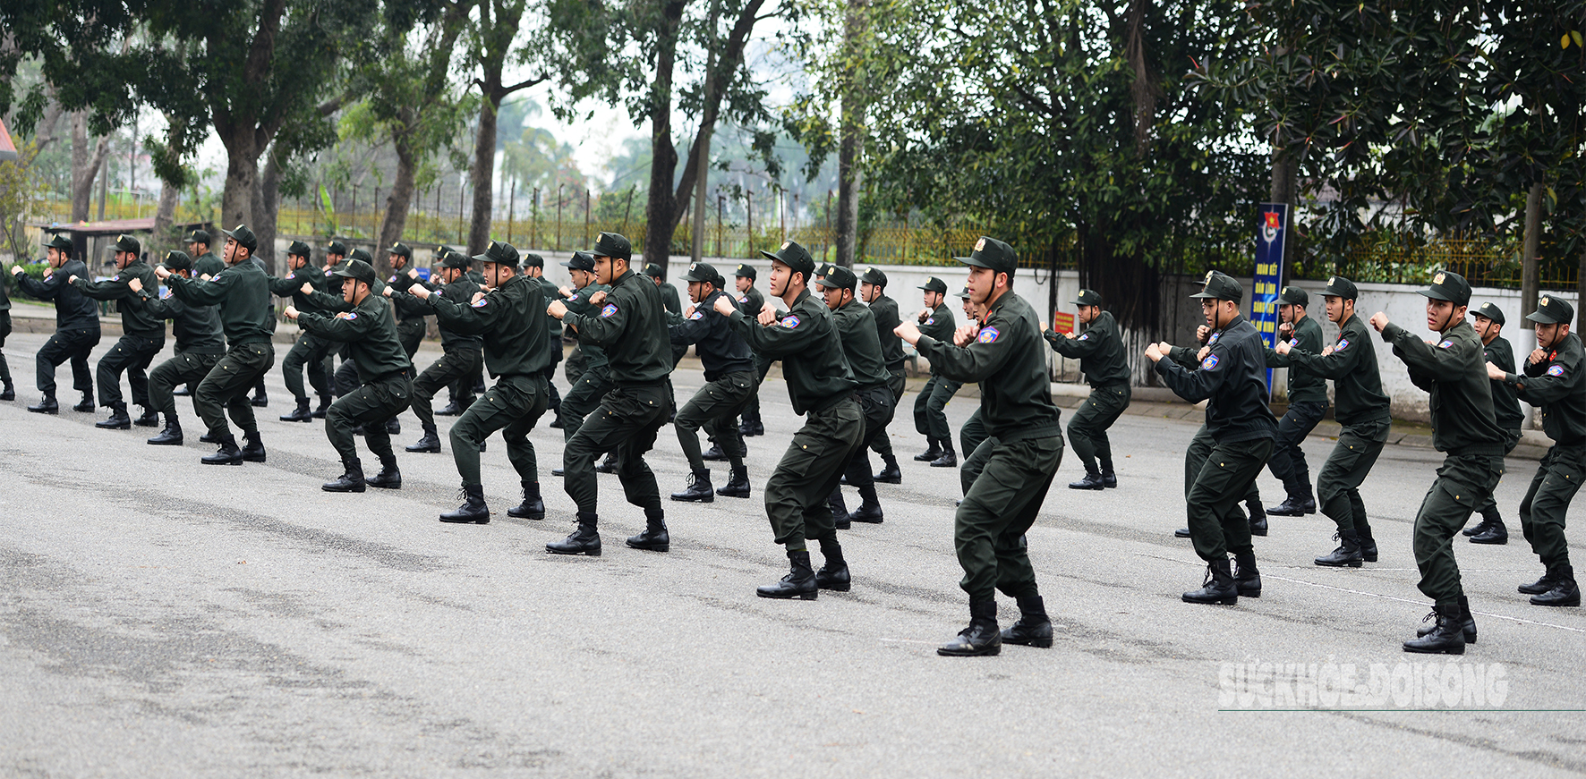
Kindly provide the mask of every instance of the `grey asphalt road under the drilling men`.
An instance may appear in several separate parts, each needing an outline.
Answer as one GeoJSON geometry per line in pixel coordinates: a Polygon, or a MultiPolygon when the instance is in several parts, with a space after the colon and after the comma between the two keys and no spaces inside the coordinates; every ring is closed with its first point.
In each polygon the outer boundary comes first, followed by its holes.
{"type": "MultiPolygon", "coordinates": [[[[457,505],[449,454],[400,453],[398,492],[322,492],[338,461],[319,423],[276,421],[279,370],[266,464],[200,466],[209,448],[186,399],[184,448],[94,429],[102,415],[30,415],[43,340],[5,347],[22,391],[0,404],[0,776],[1586,773],[1586,616],[1515,592],[1540,575],[1513,521],[1534,467],[1523,461],[1499,488],[1515,542],[1456,549],[1480,643],[1458,660],[1405,656],[1399,643],[1429,610],[1410,522],[1435,453],[1389,446],[1366,483],[1380,564],[1316,568],[1331,522],[1274,518],[1258,540],[1264,595],[1196,606],[1178,594],[1204,565],[1170,535],[1196,423],[1126,415],[1120,488],[1059,486],[1029,532],[1056,646],[945,659],[936,644],[967,619],[958,478],[909,461],[923,442],[907,408],[891,429],[904,483],[882,486],[887,521],[844,535],[853,591],[777,602],[753,587],[785,570],[760,500],[799,421],[780,382],[761,390],[753,499],[669,504],[672,551],[641,553],[622,538],[642,513],[603,475],[606,554],[550,557],[544,543],[573,527],[549,477],[560,431],[531,434],[547,519],[506,518],[517,478],[495,439],[493,521],[447,526],[436,513],[457,505]],[[1229,679],[1243,665],[1229,663],[1316,663],[1323,679],[1381,663],[1408,674],[1405,695],[1429,676],[1451,697],[1327,706],[1301,686],[1283,706],[1240,698],[1229,679]],[[1481,705],[1472,673],[1488,679],[1481,705]],[[1308,711],[1224,711],[1251,708],[1308,711]]],[[[70,385],[65,366],[60,378],[70,385]]],[[[699,382],[680,372],[679,396],[699,382]]],[[[972,402],[948,407],[955,426],[972,402]]],[[[419,431],[403,421],[398,442],[411,443],[419,431]]],[[[1329,443],[1305,448],[1315,470],[1329,443]]],[[[649,462],[663,491],[684,486],[671,431],[649,462]]],[[[1067,461],[1059,480],[1077,472],[1067,461]]],[[[1261,488],[1281,499],[1270,475],[1261,488]]]]}

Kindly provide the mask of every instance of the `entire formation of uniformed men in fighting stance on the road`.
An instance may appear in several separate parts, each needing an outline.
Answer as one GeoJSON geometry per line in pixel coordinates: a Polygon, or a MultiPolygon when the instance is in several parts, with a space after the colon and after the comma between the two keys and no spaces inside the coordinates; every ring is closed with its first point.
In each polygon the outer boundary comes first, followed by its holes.
{"type": "MultiPolygon", "coordinates": [[[[428,279],[412,268],[412,250],[396,244],[389,250],[393,272],[384,280],[363,250],[349,253],[333,242],[327,266],[319,269],[309,264],[309,247],[293,242],[287,274],[271,277],[254,258],[259,244],[247,226],[224,233],[220,256],[208,252],[209,236],[195,231],[189,234],[192,253],[170,252],[155,266],[143,260],[136,239],[121,236],[114,245],[116,272],[103,280],[92,280],[87,266],[71,258],[71,244],[60,238],[46,245],[49,268],[43,280],[13,268],[27,294],[52,301],[57,310],[57,331],[36,359],[43,397],[29,410],[59,413],[54,374],[60,363],[71,361],[73,386],[82,393],[76,410],[108,408],[109,418],[98,426],[109,429],[155,428],[163,418],[163,429],[149,443],[181,445],[174,397],[176,388],[186,385],[203,421],[200,440],[216,445],[201,462],[263,462],[254,407],[262,377],[276,359],[271,296],[289,298],[284,315],[301,332],[282,361],[297,405],[281,420],[325,420],[327,439],[343,467],[325,491],[400,489],[392,445],[392,435],[400,432],[396,416],[412,410],[420,424],[420,439],[406,451],[439,453],[435,416],[452,413],[458,418],[449,445],[462,478],[462,505],[439,519],[490,521],[479,454],[496,431],[522,488],[522,502],[508,515],[542,519],[541,469],[528,432],[552,413],[549,424],[563,431],[566,443],[561,467],[552,475],[563,480],[577,513],[574,530],[546,545],[547,553],[601,554],[596,472],[614,472],[623,499],[644,510],[646,529],[626,538],[626,546],[665,553],[671,545],[666,511],[646,453],[661,428],[671,426],[690,466],[687,484],[671,492],[671,500],[750,497],[745,439],[764,434],[758,388],[769,364],[780,363],[793,410],[804,424],[763,488],[772,540],[787,551],[788,573],[757,594],[814,600],[822,589],[853,587],[837,530],[852,522],[882,522],[875,484],[901,481],[887,428],[904,394],[907,342],[931,366],[914,407],[915,429],[928,448],[915,459],[960,467],[963,488],[955,548],[964,570],[960,586],[969,595],[969,624],[937,649],[945,656],[998,654],[1004,643],[1052,646],[1052,621],[1025,538],[1064,450],[1050,394],[1048,348],[1077,358],[1091,388],[1067,424],[1069,445],[1083,467],[1083,477],[1069,488],[1118,486],[1107,429],[1128,408],[1132,378],[1118,323],[1096,291],[1080,290],[1072,302],[1083,329],[1047,328],[1013,293],[1013,249],[993,238],[982,238],[969,256],[958,258],[967,268],[967,283],[958,293],[966,321],[958,325],[942,279],[929,277],[920,287],[923,307],[902,317],[898,302],[885,294],[882,271],[869,268],[856,276],[842,266],[817,268],[795,242],[761,252],[771,261],[766,291],[782,306],[755,287],[752,266],[737,266],[730,287],[715,268],[695,263],[682,277],[690,304],[680,307],[661,269],[631,266],[631,245],[615,233],[601,233],[593,249],[563,263],[573,279],[568,287],[544,277],[539,255],[504,242],[492,242],[477,256],[441,247],[428,279]],[[97,404],[95,377],[87,367],[87,355],[100,340],[95,301],[121,302],[124,332],[98,363],[97,404]],[[420,372],[412,358],[428,317],[436,320],[442,356],[420,372]],[[147,370],[165,345],[163,320],[174,321],[174,356],[147,370]],[[563,334],[577,344],[566,366],[573,383],[566,396],[552,382],[563,361],[563,334]],[[706,385],[679,405],[671,372],[690,345],[706,385]],[[488,372],[492,385],[482,386],[482,372],[488,372]],[[132,402],[141,407],[136,420],[121,394],[122,374],[132,402]],[[960,466],[942,407],[971,382],[980,386],[980,402],[960,429],[960,466]],[[317,408],[309,408],[308,388],[319,394],[317,408]],[[449,404],[435,410],[442,390],[449,404]],[[712,442],[709,451],[701,451],[699,431],[712,442]],[[357,435],[365,439],[377,469],[374,462],[365,466],[357,435]],[[872,470],[871,450],[882,458],[879,472],[872,470]],[[728,462],[720,488],[707,461],[728,462]],[[842,484],[858,489],[853,511],[847,510],[842,484]],[[818,568],[810,542],[820,551],[818,568]],[[1020,616],[1007,629],[998,625],[998,591],[1018,605],[1020,616]]],[[[1537,325],[1538,347],[1516,374],[1500,334],[1504,312],[1488,302],[1473,312],[1473,323],[1467,321],[1470,285],[1461,276],[1439,272],[1421,294],[1427,299],[1432,340],[1383,314],[1362,323],[1354,310],[1354,283],[1329,279],[1323,298],[1339,336],[1323,345],[1321,328],[1307,310],[1308,294],[1288,287],[1280,296],[1278,342],[1267,347],[1240,315],[1242,285],[1213,271],[1194,294],[1205,317],[1197,344],[1164,342],[1145,350],[1161,383],[1190,402],[1207,402],[1205,424],[1185,453],[1188,527],[1177,534],[1193,542],[1207,575],[1199,589],[1183,594],[1185,602],[1232,605],[1239,597],[1261,595],[1253,537],[1267,534],[1266,515],[1320,510],[1332,519],[1337,548],[1318,556],[1316,565],[1359,568],[1378,560],[1359,492],[1391,424],[1372,328],[1404,361],[1412,382],[1431,394],[1434,445],[1446,454],[1413,534],[1419,589],[1432,600],[1435,619],[1404,643],[1405,651],[1462,654],[1477,640],[1453,540],[1472,513],[1481,515],[1480,524],[1464,529],[1472,543],[1508,540],[1492,489],[1504,472],[1504,454],[1519,442],[1519,401],[1540,407],[1543,431],[1554,440],[1519,505],[1521,530],[1545,572],[1519,592],[1532,595],[1535,605],[1580,605],[1564,538],[1565,510],[1586,467],[1586,352],[1570,332],[1575,312],[1564,301],[1540,299],[1527,317],[1537,325]],[[1281,418],[1269,407],[1269,367],[1288,369],[1289,404],[1281,418]],[[1327,412],[1327,380],[1334,382],[1334,416],[1342,429],[1313,489],[1301,442],[1327,412]],[[1266,510],[1255,491],[1264,467],[1285,489],[1283,502],[1266,510]]],[[[10,332],[8,309],[10,301],[0,296],[0,345],[10,332]]],[[[3,355],[0,380],[0,399],[14,399],[3,355]]]]}

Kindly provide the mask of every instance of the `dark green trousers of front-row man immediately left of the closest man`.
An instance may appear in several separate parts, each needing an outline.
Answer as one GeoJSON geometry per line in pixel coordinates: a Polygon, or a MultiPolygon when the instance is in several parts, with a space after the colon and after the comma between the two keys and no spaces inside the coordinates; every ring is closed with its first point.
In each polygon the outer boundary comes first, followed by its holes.
{"type": "Polygon", "coordinates": [[[837,524],[826,499],[864,435],[860,401],[845,396],[828,408],[804,412],[782,461],[766,480],[766,518],[776,543],[807,549],[807,538],[836,538],[837,524]]]}

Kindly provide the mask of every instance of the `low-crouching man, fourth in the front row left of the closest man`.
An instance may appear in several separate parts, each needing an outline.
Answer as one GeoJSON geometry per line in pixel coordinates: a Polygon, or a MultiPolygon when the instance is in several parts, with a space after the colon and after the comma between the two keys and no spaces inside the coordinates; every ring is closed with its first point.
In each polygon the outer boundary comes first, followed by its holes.
{"type": "Polygon", "coordinates": [[[392,451],[385,420],[412,402],[412,361],[401,344],[398,325],[393,321],[392,304],[373,291],[374,268],[354,260],[336,268],[343,279],[343,299],[352,310],[341,314],[300,312],[287,306],[287,318],[327,340],[347,344],[352,361],[358,366],[362,386],[330,404],[325,412],[325,437],[341,456],[343,473],[335,481],[320,486],[327,492],[363,492],[365,484],[382,489],[401,489],[401,470],[396,469],[396,453],[392,451]],[[358,448],[352,440],[352,426],[363,424],[363,442],[381,459],[381,472],[363,477],[358,448]]]}

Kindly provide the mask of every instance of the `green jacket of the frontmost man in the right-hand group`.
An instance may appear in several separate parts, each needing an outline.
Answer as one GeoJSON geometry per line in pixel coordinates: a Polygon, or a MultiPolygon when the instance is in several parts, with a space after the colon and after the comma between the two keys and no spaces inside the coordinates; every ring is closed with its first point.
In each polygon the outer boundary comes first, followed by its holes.
{"type": "Polygon", "coordinates": [[[1502,454],[1504,429],[1492,415],[1492,386],[1481,339],[1469,320],[1442,332],[1435,345],[1388,323],[1383,340],[1410,369],[1410,382],[1432,396],[1432,446],[1454,454],[1502,454]]]}

